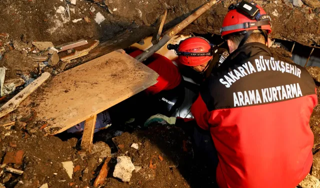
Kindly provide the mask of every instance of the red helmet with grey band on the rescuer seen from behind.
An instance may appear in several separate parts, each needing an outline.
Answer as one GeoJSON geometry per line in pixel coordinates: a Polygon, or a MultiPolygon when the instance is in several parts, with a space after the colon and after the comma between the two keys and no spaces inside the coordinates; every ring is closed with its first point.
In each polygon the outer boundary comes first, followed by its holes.
{"type": "Polygon", "coordinates": [[[225,15],[222,28],[220,29],[221,37],[230,33],[247,30],[265,30],[269,34],[271,33],[270,20],[270,17],[266,15],[266,12],[261,7],[242,1],[238,5],[233,6],[225,15]],[[252,8],[256,9],[255,15],[253,15],[252,8]],[[243,13],[241,9],[248,13],[243,13]]]}

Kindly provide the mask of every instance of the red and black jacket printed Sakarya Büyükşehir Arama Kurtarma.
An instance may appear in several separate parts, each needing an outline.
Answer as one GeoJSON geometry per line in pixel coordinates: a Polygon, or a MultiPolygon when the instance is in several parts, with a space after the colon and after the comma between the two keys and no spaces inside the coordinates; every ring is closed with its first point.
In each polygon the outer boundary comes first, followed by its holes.
{"type": "Polygon", "coordinates": [[[312,164],[316,104],[308,72],[271,57],[265,45],[230,54],[191,107],[218,152],[219,187],[295,187],[312,164]]]}

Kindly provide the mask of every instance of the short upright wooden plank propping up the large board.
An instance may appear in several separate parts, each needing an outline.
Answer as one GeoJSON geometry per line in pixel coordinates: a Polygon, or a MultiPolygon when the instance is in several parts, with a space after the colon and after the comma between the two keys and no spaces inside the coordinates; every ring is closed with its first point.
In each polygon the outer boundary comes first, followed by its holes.
{"type": "Polygon", "coordinates": [[[89,119],[85,120],[85,123],[84,123],[81,149],[86,152],[88,151],[89,153],[91,152],[91,147],[92,147],[95,121],[96,121],[96,114],[90,117],[89,119]]]}

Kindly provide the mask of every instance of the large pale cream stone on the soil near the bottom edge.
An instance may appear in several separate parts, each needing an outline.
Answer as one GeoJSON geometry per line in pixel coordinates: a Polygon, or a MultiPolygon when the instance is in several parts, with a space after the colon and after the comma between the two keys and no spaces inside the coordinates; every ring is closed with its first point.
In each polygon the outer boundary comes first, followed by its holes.
{"type": "Polygon", "coordinates": [[[118,156],[116,165],[113,171],[113,177],[120,178],[124,182],[130,181],[134,165],[128,156],[118,156]]]}

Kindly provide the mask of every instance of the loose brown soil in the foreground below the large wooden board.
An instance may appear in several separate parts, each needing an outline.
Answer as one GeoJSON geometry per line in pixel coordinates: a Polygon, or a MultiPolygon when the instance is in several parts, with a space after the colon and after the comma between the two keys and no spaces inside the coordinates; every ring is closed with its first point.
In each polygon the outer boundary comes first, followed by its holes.
{"type": "MultiPolygon", "coordinates": [[[[14,125],[10,130],[0,127],[0,156],[3,158],[9,151],[24,151],[21,165],[6,165],[24,171],[22,175],[4,172],[0,182],[6,188],[33,188],[44,183],[48,183],[49,187],[92,187],[104,158],[80,153],[75,147],[77,139],[67,138],[68,135],[44,136],[41,129],[30,135],[17,127],[14,125]],[[73,166],[77,168],[80,166],[72,179],[62,167],[61,162],[64,161],[73,161],[73,166]],[[70,183],[73,185],[70,186],[70,183]]],[[[95,141],[108,143],[112,151],[108,164],[110,170],[102,187],[199,187],[198,182],[202,180],[203,187],[213,185],[210,169],[196,159],[199,156],[194,155],[190,135],[181,128],[158,124],[147,130],[134,128],[132,131],[130,127],[121,126],[112,128],[94,136],[95,141]],[[126,129],[127,132],[115,136],[118,132],[115,130],[119,129],[126,129]],[[137,150],[130,147],[132,143],[138,143],[137,150]],[[122,147],[118,149],[117,145],[122,147]],[[132,172],[129,182],[112,177],[116,157],[122,155],[129,156],[135,166],[141,167],[139,171],[132,172]],[[150,160],[152,168],[149,166],[150,160]]]]}

